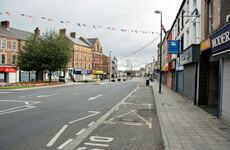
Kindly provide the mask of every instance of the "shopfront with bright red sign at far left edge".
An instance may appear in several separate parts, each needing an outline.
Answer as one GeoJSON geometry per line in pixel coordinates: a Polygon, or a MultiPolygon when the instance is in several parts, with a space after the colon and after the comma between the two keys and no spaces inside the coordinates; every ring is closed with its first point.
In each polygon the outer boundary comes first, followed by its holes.
{"type": "Polygon", "coordinates": [[[0,82],[17,82],[17,69],[15,67],[0,67],[0,82]]]}

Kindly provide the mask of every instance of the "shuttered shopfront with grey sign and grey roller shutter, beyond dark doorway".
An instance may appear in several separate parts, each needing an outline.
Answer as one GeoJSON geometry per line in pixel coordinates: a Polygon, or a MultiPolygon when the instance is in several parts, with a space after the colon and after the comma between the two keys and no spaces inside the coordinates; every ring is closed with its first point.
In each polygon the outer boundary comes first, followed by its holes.
{"type": "Polygon", "coordinates": [[[200,45],[192,44],[180,54],[180,65],[184,66],[183,96],[196,104],[197,73],[200,45]]]}

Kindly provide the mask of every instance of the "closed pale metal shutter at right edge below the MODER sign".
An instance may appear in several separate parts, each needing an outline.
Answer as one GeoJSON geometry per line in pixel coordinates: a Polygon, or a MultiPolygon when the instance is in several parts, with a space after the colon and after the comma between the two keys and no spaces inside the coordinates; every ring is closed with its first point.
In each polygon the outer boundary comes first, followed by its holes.
{"type": "Polygon", "coordinates": [[[223,98],[222,116],[223,122],[230,125],[230,59],[224,59],[223,63],[223,98]]]}

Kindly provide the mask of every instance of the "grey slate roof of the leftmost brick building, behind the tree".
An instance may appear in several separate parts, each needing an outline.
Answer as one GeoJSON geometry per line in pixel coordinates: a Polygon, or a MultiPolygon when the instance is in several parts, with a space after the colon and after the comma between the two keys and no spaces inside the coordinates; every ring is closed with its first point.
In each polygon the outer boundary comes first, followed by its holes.
{"type": "Polygon", "coordinates": [[[26,40],[27,38],[32,36],[33,33],[14,28],[9,28],[9,30],[7,30],[5,27],[0,25],[0,35],[20,40],[26,40]]]}

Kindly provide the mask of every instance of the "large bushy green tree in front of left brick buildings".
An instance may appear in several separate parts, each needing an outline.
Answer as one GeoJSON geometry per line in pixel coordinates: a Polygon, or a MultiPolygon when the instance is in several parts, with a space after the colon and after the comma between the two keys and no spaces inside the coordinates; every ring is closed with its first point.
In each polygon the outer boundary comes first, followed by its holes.
{"type": "Polygon", "coordinates": [[[71,45],[63,35],[55,31],[46,32],[40,37],[31,36],[26,40],[24,51],[19,51],[17,66],[21,70],[49,72],[49,81],[54,71],[66,68],[71,58],[71,45]]]}

